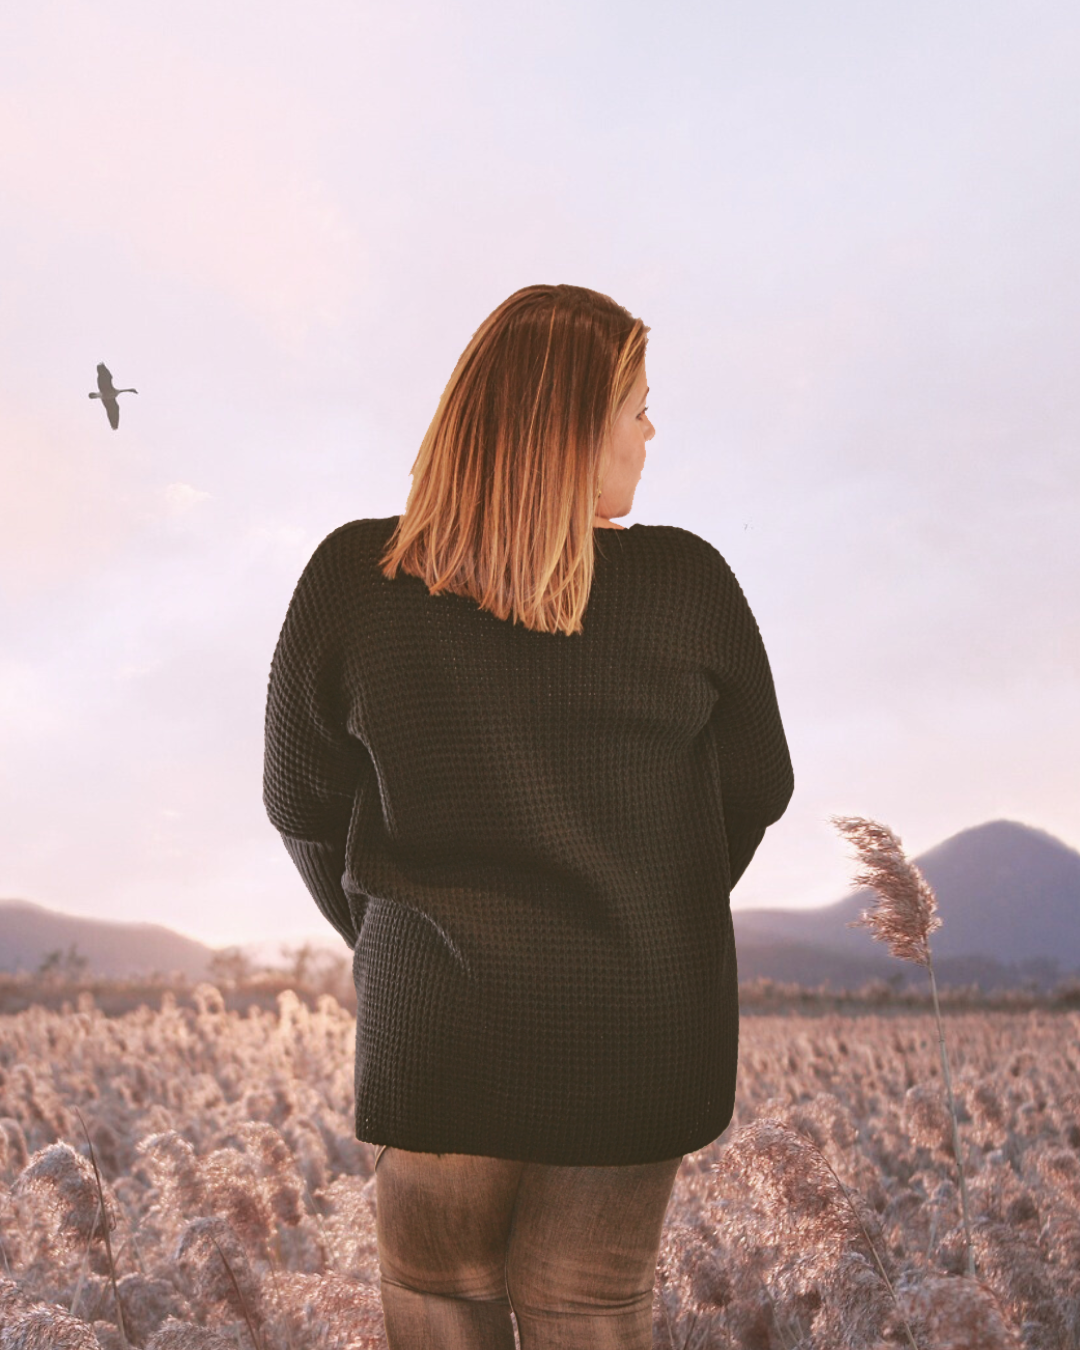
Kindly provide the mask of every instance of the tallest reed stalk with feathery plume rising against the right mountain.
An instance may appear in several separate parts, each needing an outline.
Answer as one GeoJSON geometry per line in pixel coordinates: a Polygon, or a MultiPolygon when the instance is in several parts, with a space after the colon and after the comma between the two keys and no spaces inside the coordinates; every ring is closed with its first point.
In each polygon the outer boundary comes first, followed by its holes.
{"type": "Polygon", "coordinates": [[[856,853],[860,864],[853,882],[859,887],[869,887],[876,900],[863,910],[848,927],[868,927],[873,937],[886,942],[892,956],[903,961],[925,965],[930,976],[930,994],[934,1000],[934,1021],[937,1022],[937,1042],[941,1054],[941,1075],[949,1102],[949,1115],[953,1122],[953,1153],[960,1177],[960,1207],[964,1218],[968,1274],[975,1278],[975,1249],[968,1218],[968,1187],[964,1180],[964,1160],[960,1153],[960,1126],[956,1119],[956,1102],[949,1075],[949,1056],[945,1049],[945,1027],[941,1021],[941,1006],[937,998],[934,963],[930,956],[930,934],[941,927],[937,914],[937,896],[933,887],[905,855],[899,838],[879,821],[861,815],[834,815],[832,824],[844,834],[856,853]]]}

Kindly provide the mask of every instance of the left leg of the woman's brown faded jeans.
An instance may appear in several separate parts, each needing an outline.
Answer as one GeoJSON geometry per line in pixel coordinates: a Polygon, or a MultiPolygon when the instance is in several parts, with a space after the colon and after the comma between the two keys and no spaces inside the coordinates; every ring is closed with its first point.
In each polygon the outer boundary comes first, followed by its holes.
{"type": "Polygon", "coordinates": [[[524,1166],[382,1152],[375,1233],[390,1350],[514,1350],[506,1243],[524,1166]]]}

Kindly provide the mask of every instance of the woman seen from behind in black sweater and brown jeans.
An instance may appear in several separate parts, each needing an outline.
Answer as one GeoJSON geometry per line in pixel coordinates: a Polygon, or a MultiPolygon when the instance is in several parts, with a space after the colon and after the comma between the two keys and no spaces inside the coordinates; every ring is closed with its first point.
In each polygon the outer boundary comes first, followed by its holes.
{"type": "Polygon", "coordinates": [[[647,332],[504,301],[274,655],[266,809],[354,952],[392,1350],[512,1350],[512,1311],[528,1350],[651,1346],[675,1173],[732,1118],[729,892],[791,763],[721,555],[612,518],[647,332]]]}

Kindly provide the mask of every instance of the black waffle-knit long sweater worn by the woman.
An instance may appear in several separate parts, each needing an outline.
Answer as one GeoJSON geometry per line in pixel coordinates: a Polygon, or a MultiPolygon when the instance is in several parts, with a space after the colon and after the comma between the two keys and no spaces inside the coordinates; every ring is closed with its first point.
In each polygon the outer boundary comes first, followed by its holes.
{"type": "Polygon", "coordinates": [[[674,1158],[734,1103],[729,892],[792,776],[753,616],[706,540],[594,529],[583,633],[329,535],[270,671],[265,802],[354,949],[356,1135],[674,1158]]]}

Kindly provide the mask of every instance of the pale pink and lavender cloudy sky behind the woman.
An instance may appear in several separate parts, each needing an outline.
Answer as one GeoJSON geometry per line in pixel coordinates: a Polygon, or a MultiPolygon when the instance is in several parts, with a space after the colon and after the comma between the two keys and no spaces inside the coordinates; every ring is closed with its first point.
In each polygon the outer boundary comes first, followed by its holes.
{"type": "Polygon", "coordinates": [[[833,814],[1080,846],[1071,0],[11,8],[0,896],[333,937],[262,807],[274,643],[536,282],[651,327],[621,524],[765,640],[795,796],[733,906],[845,894],[833,814]]]}

